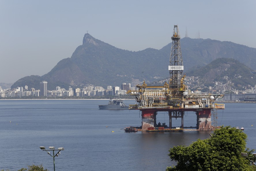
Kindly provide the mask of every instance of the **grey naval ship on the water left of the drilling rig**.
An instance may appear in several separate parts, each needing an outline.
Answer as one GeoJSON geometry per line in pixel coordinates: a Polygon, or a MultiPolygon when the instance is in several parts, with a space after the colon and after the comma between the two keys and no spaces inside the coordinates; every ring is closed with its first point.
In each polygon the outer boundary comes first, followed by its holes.
{"type": "Polygon", "coordinates": [[[110,99],[108,105],[99,105],[99,109],[129,109],[121,98],[110,99]]]}

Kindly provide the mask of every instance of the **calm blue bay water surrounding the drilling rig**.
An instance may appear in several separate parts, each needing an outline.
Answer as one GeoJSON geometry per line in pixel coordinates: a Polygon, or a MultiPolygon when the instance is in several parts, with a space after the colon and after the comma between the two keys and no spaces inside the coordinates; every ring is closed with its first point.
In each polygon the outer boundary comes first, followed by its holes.
{"type": "MultiPolygon", "coordinates": [[[[189,145],[211,133],[125,133],[120,129],[141,126],[139,111],[98,109],[98,105],[107,103],[108,100],[1,100],[0,170],[16,171],[42,164],[53,171],[53,158],[39,146],[55,146],[65,148],[55,158],[56,171],[163,171],[175,164],[168,157],[170,147],[189,145]]],[[[256,149],[255,109],[256,103],[226,103],[226,109],[218,112],[218,125],[244,127],[247,147],[256,149]]],[[[159,112],[158,122],[168,125],[168,114],[159,112]]],[[[180,123],[179,119],[173,120],[176,127],[180,123]]],[[[185,113],[184,126],[195,125],[196,115],[185,113]]]]}

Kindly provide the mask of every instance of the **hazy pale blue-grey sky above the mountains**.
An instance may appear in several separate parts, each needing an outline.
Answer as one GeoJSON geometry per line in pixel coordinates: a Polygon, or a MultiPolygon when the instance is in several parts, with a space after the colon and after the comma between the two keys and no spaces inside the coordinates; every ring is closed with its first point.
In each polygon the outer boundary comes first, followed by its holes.
{"type": "Polygon", "coordinates": [[[48,73],[71,57],[86,30],[130,51],[161,49],[174,25],[181,38],[187,27],[190,38],[199,32],[256,48],[255,9],[255,0],[0,0],[0,82],[48,73]]]}

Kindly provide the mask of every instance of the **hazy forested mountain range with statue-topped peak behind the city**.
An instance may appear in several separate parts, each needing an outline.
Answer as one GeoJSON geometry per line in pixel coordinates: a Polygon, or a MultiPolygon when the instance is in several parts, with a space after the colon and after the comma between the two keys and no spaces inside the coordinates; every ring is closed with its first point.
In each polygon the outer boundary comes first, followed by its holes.
{"type": "MultiPolygon", "coordinates": [[[[256,48],[211,39],[182,38],[180,44],[184,72],[188,75],[200,73],[195,69],[200,70],[218,58],[232,58],[249,70],[256,70],[256,48]]],[[[147,48],[137,52],[128,51],[85,34],[82,45],[70,58],[61,60],[41,77],[31,75],[19,79],[11,88],[28,85],[29,88],[39,89],[39,82],[44,80],[48,82],[48,89],[54,90],[56,86],[82,88],[84,85],[95,85],[106,88],[108,85],[136,85],[143,80],[150,83],[166,79],[169,77],[171,47],[172,42],[159,50],[147,48]]]]}

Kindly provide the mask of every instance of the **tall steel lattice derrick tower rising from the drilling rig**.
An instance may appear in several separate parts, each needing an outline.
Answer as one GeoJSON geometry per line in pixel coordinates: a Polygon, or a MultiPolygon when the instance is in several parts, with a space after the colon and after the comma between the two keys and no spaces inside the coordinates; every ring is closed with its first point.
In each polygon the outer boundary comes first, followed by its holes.
{"type": "Polygon", "coordinates": [[[183,61],[180,48],[180,32],[178,25],[174,25],[172,36],[172,50],[170,56],[170,88],[180,88],[180,80],[183,77],[183,61]]]}

